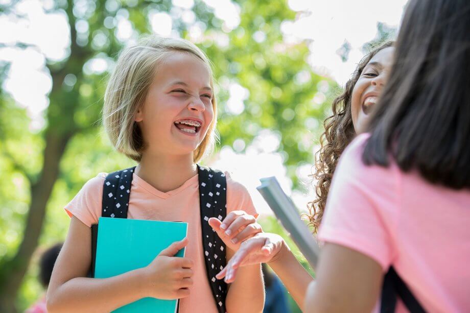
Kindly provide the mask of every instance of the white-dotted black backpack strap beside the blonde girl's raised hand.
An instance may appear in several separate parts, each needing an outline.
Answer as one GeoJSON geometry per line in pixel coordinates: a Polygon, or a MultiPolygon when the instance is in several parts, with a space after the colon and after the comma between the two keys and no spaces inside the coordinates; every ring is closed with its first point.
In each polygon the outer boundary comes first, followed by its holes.
{"type": "Polygon", "coordinates": [[[199,202],[201,210],[202,247],[210,288],[219,313],[225,313],[227,284],[216,278],[226,265],[225,244],[207,221],[225,219],[227,215],[227,180],[225,174],[198,165],[199,202]]]}

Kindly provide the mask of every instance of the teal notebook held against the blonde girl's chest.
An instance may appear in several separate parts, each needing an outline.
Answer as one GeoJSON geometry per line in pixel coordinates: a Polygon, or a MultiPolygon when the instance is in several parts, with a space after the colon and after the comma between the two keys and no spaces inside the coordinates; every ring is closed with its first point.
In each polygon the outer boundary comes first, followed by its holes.
{"type": "MultiPolygon", "coordinates": [[[[146,267],[172,243],[184,239],[187,223],[100,218],[95,278],[108,278],[146,267]]],[[[184,251],[175,256],[182,257],[184,251]]],[[[177,300],[144,298],[113,312],[171,312],[177,300]]]]}

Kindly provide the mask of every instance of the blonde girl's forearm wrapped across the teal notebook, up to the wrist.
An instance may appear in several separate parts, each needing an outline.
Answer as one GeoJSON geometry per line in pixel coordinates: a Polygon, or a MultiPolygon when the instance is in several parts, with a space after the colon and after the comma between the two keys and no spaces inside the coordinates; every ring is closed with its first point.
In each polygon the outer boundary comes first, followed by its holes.
{"type": "Polygon", "coordinates": [[[109,312],[146,297],[142,269],[110,278],[77,277],[48,291],[48,312],[109,312]]]}

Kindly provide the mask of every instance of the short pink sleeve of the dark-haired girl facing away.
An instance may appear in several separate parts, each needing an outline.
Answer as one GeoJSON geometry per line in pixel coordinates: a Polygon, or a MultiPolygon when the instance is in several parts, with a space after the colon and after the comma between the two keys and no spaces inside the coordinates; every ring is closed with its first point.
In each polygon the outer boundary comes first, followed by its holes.
{"type": "Polygon", "coordinates": [[[399,209],[396,165],[363,164],[367,138],[360,135],[340,158],[318,237],[365,254],[386,271],[394,256],[399,209]]]}

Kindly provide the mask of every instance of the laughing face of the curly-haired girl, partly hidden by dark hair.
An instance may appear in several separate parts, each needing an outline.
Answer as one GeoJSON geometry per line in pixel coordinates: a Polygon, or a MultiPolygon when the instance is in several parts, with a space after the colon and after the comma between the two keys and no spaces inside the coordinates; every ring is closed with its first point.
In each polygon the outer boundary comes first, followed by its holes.
{"type": "Polygon", "coordinates": [[[351,114],[356,133],[367,122],[369,113],[387,83],[394,47],[387,47],[379,51],[370,59],[362,70],[351,97],[351,114]]]}

